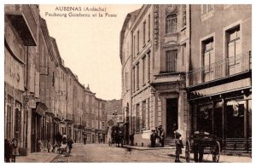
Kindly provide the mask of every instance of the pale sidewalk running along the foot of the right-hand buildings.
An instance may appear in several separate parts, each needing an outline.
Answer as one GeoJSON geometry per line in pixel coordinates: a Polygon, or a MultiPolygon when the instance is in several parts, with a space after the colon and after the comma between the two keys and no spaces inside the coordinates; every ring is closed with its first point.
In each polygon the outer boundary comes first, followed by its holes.
{"type": "MultiPolygon", "coordinates": [[[[163,156],[172,156],[175,157],[175,147],[164,147],[164,148],[149,148],[149,147],[138,147],[138,146],[129,146],[124,145],[124,148],[131,148],[136,150],[164,150],[166,149],[168,152],[166,153],[163,151],[163,156]]],[[[183,154],[180,155],[180,158],[185,159],[185,148],[183,148],[183,154]]],[[[204,162],[212,162],[212,154],[204,154],[203,157],[204,162]]],[[[190,154],[190,162],[194,162],[194,154],[190,154]]],[[[246,155],[227,155],[227,154],[220,154],[219,155],[219,162],[220,163],[252,163],[252,157],[246,155]]]]}

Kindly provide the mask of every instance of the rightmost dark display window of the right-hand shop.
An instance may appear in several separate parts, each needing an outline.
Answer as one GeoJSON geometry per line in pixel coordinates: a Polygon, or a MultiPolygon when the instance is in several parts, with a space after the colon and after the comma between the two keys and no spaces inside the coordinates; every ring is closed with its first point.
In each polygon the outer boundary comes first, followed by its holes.
{"type": "Polygon", "coordinates": [[[227,138],[244,137],[244,101],[228,101],[226,104],[225,135],[227,138]]]}

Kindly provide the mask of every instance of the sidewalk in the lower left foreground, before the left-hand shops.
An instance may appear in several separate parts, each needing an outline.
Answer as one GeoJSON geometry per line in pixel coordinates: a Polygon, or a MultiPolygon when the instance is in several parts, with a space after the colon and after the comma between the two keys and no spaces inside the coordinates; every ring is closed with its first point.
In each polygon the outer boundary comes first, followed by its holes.
{"type": "Polygon", "coordinates": [[[27,156],[16,157],[16,163],[49,163],[55,159],[58,153],[48,153],[47,151],[31,153],[27,156]]]}

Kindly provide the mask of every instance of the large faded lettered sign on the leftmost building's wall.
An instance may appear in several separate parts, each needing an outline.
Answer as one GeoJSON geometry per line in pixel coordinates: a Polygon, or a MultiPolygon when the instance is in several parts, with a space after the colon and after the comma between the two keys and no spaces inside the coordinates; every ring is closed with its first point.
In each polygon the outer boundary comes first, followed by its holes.
{"type": "Polygon", "coordinates": [[[13,85],[16,90],[24,91],[24,67],[19,62],[15,61],[7,49],[4,49],[4,57],[4,81],[13,85]]]}

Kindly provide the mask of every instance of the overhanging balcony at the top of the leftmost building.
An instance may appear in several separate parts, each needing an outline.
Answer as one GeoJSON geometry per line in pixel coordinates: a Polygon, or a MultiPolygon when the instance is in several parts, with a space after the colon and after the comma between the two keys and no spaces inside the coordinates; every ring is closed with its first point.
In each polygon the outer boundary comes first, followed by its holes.
{"type": "Polygon", "coordinates": [[[28,4],[8,4],[4,13],[27,46],[37,45],[37,23],[28,4]]]}

